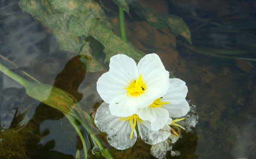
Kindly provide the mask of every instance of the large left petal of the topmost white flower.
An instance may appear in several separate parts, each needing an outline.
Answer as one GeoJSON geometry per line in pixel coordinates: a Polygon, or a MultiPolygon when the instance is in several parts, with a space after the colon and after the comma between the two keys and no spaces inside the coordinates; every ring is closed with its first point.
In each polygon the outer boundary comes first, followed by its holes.
{"type": "Polygon", "coordinates": [[[125,87],[138,78],[137,66],[126,55],[115,55],[110,59],[110,69],[97,81],[97,91],[101,98],[111,103],[119,95],[126,95],[125,87]]]}

